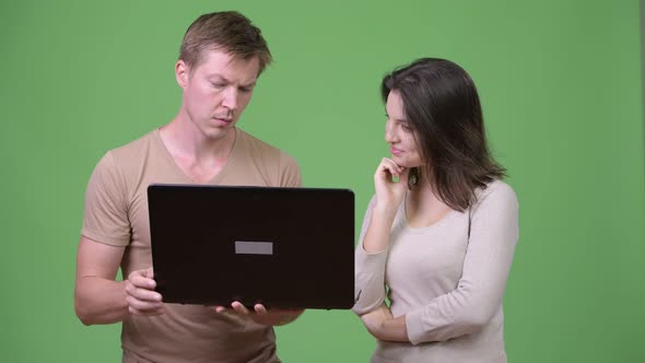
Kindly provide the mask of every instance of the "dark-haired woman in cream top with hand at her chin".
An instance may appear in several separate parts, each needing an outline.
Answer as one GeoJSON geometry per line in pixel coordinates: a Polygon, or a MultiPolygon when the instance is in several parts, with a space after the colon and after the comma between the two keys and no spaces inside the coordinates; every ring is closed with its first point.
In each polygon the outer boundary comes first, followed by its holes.
{"type": "Polygon", "coordinates": [[[474,83],[424,58],[386,75],[382,96],[391,157],[374,175],[353,308],[377,339],[372,362],[506,362],[518,204],[488,150],[474,83]]]}

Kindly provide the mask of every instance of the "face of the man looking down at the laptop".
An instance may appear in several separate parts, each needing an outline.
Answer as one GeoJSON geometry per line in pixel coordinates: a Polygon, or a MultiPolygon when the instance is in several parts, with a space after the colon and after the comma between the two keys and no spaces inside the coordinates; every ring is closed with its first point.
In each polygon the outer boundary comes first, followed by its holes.
{"type": "Polygon", "coordinates": [[[259,60],[237,59],[224,50],[204,50],[201,56],[201,62],[192,69],[181,60],[175,68],[184,90],[184,109],[207,138],[222,139],[250,101],[259,60]]]}

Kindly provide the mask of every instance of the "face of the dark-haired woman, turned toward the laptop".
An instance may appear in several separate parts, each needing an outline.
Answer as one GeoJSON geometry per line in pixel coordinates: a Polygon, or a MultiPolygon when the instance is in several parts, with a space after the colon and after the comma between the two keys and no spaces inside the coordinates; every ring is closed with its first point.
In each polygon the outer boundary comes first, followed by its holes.
{"type": "Polygon", "coordinates": [[[392,160],[399,166],[418,167],[423,165],[414,130],[406,119],[403,101],[398,91],[390,91],[385,105],[387,122],[385,124],[385,141],[389,143],[392,160]]]}

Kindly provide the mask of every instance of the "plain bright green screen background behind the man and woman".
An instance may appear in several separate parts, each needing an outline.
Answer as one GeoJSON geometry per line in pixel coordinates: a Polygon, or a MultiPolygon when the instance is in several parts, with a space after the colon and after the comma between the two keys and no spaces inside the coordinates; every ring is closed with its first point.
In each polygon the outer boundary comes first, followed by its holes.
{"type": "MultiPolygon", "coordinates": [[[[509,361],[643,362],[636,0],[2,1],[2,361],[120,359],[120,326],[73,312],[85,185],[106,150],[174,117],[185,30],[231,9],[275,58],[239,126],[292,154],[306,186],[353,189],[356,229],[388,154],[380,78],[423,56],[460,63],[520,201],[509,361]]],[[[277,332],[285,362],[366,362],[375,347],[350,312],[277,332]]]]}

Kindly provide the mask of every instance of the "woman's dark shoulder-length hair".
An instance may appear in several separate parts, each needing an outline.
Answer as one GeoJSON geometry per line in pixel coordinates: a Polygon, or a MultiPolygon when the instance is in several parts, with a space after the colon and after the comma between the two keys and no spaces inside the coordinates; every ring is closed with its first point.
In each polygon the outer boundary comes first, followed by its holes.
{"type": "Polygon", "coordinates": [[[427,180],[448,207],[465,211],[477,188],[505,176],[486,144],[474,82],[461,67],[445,59],[418,59],[383,79],[384,103],[391,91],[401,96],[427,180]]]}

